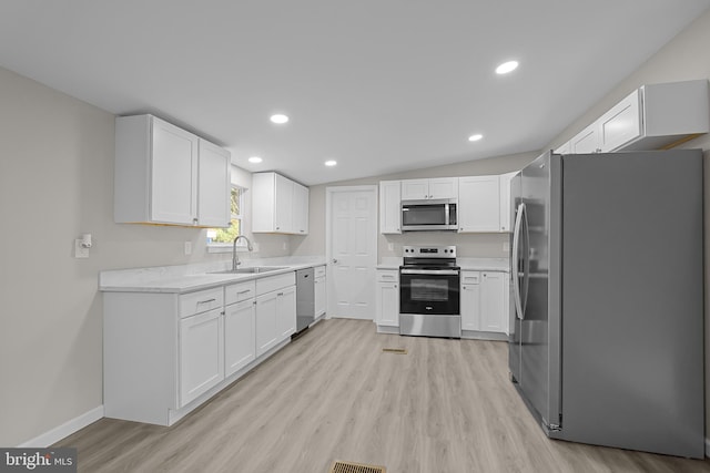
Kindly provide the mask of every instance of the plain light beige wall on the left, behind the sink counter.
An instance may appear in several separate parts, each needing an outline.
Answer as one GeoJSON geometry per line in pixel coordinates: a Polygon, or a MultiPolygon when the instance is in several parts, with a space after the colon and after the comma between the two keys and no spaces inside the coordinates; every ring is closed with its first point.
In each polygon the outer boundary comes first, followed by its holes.
{"type": "MultiPolygon", "coordinates": [[[[205,230],[113,223],[112,114],[1,68],[0,97],[0,445],[14,446],[103,402],[100,270],[230,256],[205,254],[205,230]],[[91,257],[74,259],[83,233],[91,257]]],[[[288,254],[288,237],[254,239],[288,254]]]]}

